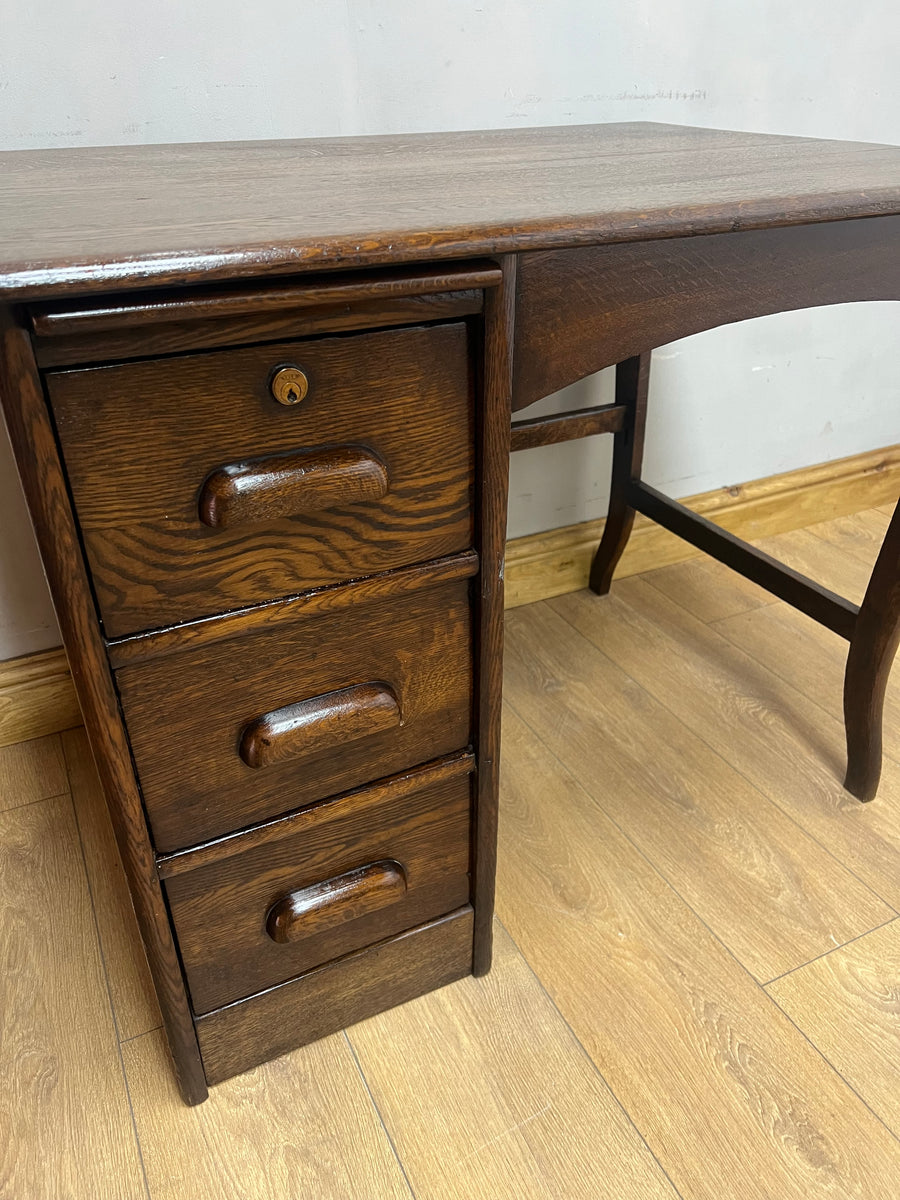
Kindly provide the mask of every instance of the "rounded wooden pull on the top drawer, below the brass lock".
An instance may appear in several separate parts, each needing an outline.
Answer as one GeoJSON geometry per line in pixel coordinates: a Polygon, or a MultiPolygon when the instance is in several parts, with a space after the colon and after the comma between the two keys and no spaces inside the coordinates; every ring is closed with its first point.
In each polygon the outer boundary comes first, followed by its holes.
{"type": "Polygon", "coordinates": [[[318,509],[379,500],[388,468],[367,446],[312,446],[218,467],[200,488],[200,521],[227,529],[318,509]]]}

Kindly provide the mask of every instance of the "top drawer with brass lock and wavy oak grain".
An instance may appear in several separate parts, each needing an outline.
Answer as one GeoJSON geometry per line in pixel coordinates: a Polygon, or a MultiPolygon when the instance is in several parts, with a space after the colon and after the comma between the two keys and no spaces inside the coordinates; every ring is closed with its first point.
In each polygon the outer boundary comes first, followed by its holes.
{"type": "Polygon", "coordinates": [[[472,544],[462,323],[52,372],[47,384],[110,637],[472,544]],[[274,396],[284,364],[308,380],[298,403],[274,396]]]}

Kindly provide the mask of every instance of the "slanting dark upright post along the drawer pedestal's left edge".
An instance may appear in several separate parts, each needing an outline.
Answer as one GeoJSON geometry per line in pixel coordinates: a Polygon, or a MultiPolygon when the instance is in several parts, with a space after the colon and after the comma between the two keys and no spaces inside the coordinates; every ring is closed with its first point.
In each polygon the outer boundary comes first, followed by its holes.
{"type": "Polygon", "coordinates": [[[66,642],[72,679],[128,878],[181,1094],[188,1104],[199,1104],[206,1098],[206,1080],[56,443],[28,332],[2,310],[0,336],[0,397],[66,642]]]}

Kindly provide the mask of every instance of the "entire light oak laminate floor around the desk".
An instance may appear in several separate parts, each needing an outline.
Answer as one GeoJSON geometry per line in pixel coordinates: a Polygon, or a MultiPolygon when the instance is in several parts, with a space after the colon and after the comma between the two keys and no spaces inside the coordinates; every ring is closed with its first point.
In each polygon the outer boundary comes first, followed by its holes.
{"type": "MultiPolygon", "coordinates": [[[[764,542],[859,599],[874,509],[764,542]]],[[[4,1200],[900,1196],[900,670],[709,560],[508,613],[496,965],[175,1092],[83,731],[0,749],[4,1200]]]]}

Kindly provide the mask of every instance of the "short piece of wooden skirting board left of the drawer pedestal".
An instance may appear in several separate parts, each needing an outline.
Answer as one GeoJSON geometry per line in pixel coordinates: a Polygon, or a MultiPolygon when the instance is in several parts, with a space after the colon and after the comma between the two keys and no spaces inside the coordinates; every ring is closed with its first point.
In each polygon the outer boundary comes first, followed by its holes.
{"type": "Polygon", "coordinates": [[[62,650],[0,662],[0,746],[82,724],[62,650]]]}

